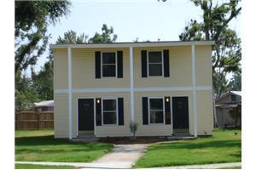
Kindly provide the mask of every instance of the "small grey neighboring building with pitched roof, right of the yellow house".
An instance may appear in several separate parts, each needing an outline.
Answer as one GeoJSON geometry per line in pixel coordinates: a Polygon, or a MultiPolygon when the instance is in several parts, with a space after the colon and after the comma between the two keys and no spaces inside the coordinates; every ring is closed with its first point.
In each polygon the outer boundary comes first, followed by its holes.
{"type": "Polygon", "coordinates": [[[230,91],[215,99],[218,127],[241,126],[241,91],[230,91]]]}

